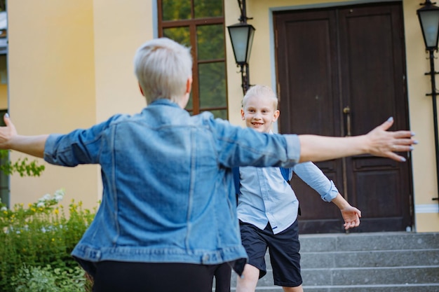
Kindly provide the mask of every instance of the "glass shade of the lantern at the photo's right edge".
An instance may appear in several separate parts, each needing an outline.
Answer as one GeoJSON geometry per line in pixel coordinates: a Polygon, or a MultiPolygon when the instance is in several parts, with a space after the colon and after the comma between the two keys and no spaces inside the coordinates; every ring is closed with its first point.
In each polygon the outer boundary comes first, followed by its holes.
{"type": "Polygon", "coordinates": [[[418,9],[417,14],[419,23],[421,24],[426,49],[437,49],[439,36],[439,8],[429,4],[418,9]]]}

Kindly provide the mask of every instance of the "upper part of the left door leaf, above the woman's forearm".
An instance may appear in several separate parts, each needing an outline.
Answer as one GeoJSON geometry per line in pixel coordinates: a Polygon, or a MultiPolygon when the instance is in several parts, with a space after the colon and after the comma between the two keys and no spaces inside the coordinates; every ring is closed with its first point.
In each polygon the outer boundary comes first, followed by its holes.
{"type": "Polygon", "coordinates": [[[281,129],[339,136],[339,121],[335,118],[339,116],[339,102],[332,99],[338,95],[337,76],[332,75],[332,62],[337,57],[331,41],[335,37],[335,31],[331,32],[334,19],[327,11],[295,16],[293,21],[288,14],[278,16],[284,24],[278,27],[279,48],[288,48],[288,52],[278,54],[278,64],[291,68],[279,72],[279,81],[283,81],[279,99],[282,108],[294,109],[288,119],[280,119],[281,129]]]}

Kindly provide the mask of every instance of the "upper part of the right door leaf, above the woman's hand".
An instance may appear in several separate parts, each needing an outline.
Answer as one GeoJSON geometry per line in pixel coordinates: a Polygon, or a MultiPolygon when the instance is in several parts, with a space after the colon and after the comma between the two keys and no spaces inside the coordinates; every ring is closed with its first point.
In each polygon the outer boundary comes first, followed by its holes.
{"type": "Polygon", "coordinates": [[[351,107],[353,135],[393,116],[405,127],[404,46],[397,5],[339,11],[343,106],[351,107]],[[399,27],[396,23],[400,23],[399,27]]]}

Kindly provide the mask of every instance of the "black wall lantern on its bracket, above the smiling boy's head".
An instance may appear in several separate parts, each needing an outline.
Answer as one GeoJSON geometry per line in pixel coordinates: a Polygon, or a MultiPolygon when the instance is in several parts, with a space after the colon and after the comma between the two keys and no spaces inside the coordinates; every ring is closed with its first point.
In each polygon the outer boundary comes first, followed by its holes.
{"type": "Polygon", "coordinates": [[[238,6],[241,10],[241,17],[239,23],[230,25],[229,35],[231,46],[234,49],[236,66],[241,67],[241,81],[243,92],[247,92],[250,88],[250,76],[248,72],[248,62],[250,60],[250,51],[252,50],[253,36],[255,35],[255,27],[249,25],[248,18],[245,12],[245,0],[238,0],[238,6]]]}

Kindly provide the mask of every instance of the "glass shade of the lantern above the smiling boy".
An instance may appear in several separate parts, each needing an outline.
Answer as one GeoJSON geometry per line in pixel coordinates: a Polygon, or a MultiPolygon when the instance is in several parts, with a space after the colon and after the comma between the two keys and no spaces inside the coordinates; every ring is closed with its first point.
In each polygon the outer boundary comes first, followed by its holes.
{"type": "Polygon", "coordinates": [[[238,23],[227,27],[229,29],[231,46],[234,49],[237,64],[245,64],[250,60],[255,27],[246,23],[238,23]]]}

